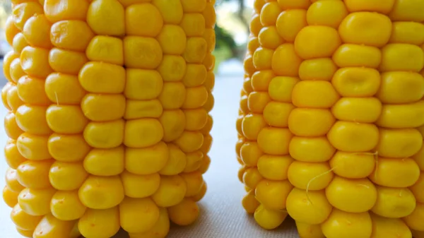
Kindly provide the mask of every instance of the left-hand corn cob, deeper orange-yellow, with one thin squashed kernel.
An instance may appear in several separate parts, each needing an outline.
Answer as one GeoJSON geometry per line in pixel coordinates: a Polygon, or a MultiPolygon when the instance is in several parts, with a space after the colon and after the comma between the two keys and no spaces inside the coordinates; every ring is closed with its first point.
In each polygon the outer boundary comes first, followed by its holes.
{"type": "Polygon", "coordinates": [[[13,0],[4,201],[24,237],[166,237],[206,193],[209,0],[13,0]]]}

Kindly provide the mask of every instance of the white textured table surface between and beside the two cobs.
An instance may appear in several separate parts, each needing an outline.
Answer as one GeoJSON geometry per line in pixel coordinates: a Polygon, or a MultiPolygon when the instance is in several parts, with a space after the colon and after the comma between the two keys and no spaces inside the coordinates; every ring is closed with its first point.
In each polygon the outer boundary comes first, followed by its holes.
{"type": "MultiPolygon", "coordinates": [[[[194,225],[189,227],[172,226],[170,238],[248,238],[248,237],[298,237],[293,231],[293,222],[286,222],[273,231],[262,230],[252,216],[245,213],[241,201],[245,194],[244,186],[238,181],[237,171],[240,167],[235,157],[237,131],[235,121],[242,88],[242,76],[217,77],[213,91],[215,107],[213,117],[213,145],[209,156],[211,167],[204,179],[208,184],[208,192],[199,203],[201,215],[194,225]]],[[[0,105],[0,116],[3,119],[6,109],[0,105]]],[[[0,145],[6,143],[3,126],[0,126],[0,145]]],[[[0,160],[0,188],[4,186],[6,162],[0,160]]],[[[1,200],[1,199],[0,199],[1,200]]],[[[9,218],[11,208],[0,202],[0,237],[20,238],[13,222],[9,218]]],[[[119,234],[117,237],[126,237],[119,234]]],[[[57,237],[62,238],[62,237],[57,237]]],[[[63,237],[65,238],[65,237],[63,237]]]]}

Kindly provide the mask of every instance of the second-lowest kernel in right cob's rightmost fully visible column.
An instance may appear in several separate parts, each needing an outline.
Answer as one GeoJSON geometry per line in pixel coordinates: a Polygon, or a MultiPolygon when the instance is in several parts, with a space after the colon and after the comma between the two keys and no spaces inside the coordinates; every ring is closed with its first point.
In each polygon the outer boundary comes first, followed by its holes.
{"type": "Polygon", "coordinates": [[[406,188],[377,187],[377,203],[372,212],[384,218],[404,218],[416,208],[416,198],[406,188]]]}

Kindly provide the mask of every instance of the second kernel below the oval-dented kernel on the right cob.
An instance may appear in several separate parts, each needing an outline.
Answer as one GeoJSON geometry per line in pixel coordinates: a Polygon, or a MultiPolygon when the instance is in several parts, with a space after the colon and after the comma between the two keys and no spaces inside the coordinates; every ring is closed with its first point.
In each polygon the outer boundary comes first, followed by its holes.
{"type": "Polygon", "coordinates": [[[379,131],[374,124],[336,121],[327,137],[336,149],[346,152],[364,152],[375,148],[379,131]]]}

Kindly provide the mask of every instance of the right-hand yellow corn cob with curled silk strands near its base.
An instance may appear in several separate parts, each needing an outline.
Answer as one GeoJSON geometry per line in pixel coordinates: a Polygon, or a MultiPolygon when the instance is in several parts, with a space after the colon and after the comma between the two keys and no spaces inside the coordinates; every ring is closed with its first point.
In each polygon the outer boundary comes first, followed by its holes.
{"type": "Polygon", "coordinates": [[[424,1],[256,0],[242,205],[302,238],[424,237],[424,1]]]}

